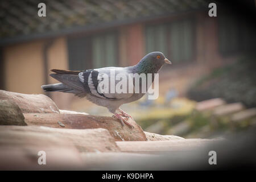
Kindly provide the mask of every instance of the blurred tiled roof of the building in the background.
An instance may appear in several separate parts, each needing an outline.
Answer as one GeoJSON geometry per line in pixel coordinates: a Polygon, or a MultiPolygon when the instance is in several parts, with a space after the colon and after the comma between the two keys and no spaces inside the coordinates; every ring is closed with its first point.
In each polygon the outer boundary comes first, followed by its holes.
{"type": "MultiPolygon", "coordinates": [[[[129,22],[158,15],[207,7],[204,0],[9,0],[0,1],[0,39],[59,34],[71,28],[129,22]],[[46,3],[46,17],[38,16],[38,3],[46,3]]],[[[80,28],[80,29],[79,29],[80,28]]]]}

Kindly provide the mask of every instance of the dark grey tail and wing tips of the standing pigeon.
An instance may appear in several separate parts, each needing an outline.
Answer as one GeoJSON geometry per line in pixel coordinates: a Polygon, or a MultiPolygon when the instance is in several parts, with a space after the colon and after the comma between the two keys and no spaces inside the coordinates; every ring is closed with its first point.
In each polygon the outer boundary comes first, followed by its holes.
{"type": "Polygon", "coordinates": [[[42,85],[42,89],[46,92],[65,92],[65,93],[73,93],[79,97],[85,97],[86,93],[84,91],[84,87],[82,82],[79,81],[77,75],[67,74],[67,73],[52,73],[51,77],[60,81],[59,84],[50,84],[50,85],[42,85]]]}

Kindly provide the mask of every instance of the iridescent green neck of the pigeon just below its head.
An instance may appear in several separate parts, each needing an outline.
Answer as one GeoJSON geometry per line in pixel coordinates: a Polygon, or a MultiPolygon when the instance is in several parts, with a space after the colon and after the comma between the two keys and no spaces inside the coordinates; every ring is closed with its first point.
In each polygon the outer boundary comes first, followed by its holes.
{"type": "Polygon", "coordinates": [[[157,73],[163,64],[148,63],[148,61],[141,60],[134,66],[136,73],[157,73]]]}

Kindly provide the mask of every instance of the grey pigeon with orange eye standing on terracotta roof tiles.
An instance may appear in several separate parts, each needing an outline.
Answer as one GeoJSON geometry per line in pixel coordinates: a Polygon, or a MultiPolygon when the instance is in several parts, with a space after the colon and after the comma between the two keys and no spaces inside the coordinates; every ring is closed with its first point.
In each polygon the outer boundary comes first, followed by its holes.
{"type": "MultiPolygon", "coordinates": [[[[165,63],[171,64],[171,61],[169,61],[162,52],[150,52],[144,56],[137,65],[132,67],[105,67],[86,69],[84,71],[51,69],[54,73],[50,74],[50,76],[60,83],[42,85],[41,87],[46,92],[65,92],[73,93],[78,97],[86,97],[87,100],[96,105],[107,107],[108,110],[114,114],[113,117],[119,119],[122,126],[126,124],[133,128],[133,126],[127,122],[127,119],[133,119],[133,117],[120,109],[120,106],[139,100],[145,93],[134,92],[134,90],[133,92],[126,93],[99,92],[97,88],[103,80],[102,76],[108,76],[110,78],[111,72],[113,71],[115,74],[122,73],[122,75],[126,75],[127,78],[130,73],[144,73],[145,75],[151,73],[153,82],[154,73],[158,73],[165,63]]],[[[117,82],[114,82],[114,84],[116,85],[117,82]]],[[[110,84],[110,87],[115,85],[110,84]]],[[[141,87],[142,84],[139,83],[139,86],[141,87]]]]}

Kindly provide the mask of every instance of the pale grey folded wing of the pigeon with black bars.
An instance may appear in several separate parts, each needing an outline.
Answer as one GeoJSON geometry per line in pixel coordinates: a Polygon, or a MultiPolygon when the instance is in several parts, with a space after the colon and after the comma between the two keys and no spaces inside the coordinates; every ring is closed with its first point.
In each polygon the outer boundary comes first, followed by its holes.
{"type": "MultiPolygon", "coordinates": [[[[129,85],[129,69],[119,67],[107,67],[90,69],[80,72],[79,80],[84,84],[85,90],[94,97],[106,100],[121,100],[130,98],[134,94],[133,85],[129,85]],[[118,77],[119,76],[119,77],[118,77]],[[117,80],[116,78],[119,78],[117,80]],[[125,84],[126,83],[126,84],[125,84]],[[116,88],[123,88],[126,92],[117,93],[116,88]]],[[[121,90],[122,91],[122,90],[121,90]]]]}

